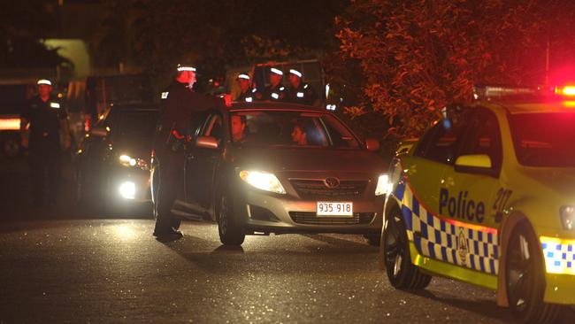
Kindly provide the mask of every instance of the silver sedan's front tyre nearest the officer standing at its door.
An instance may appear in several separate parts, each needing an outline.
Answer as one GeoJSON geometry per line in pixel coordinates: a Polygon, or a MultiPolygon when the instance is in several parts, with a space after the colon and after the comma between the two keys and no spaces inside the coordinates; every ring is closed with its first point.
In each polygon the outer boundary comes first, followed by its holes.
{"type": "Polygon", "coordinates": [[[219,195],[218,202],[219,241],[224,245],[242,245],[246,235],[234,217],[232,198],[223,192],[219,195]]]}

